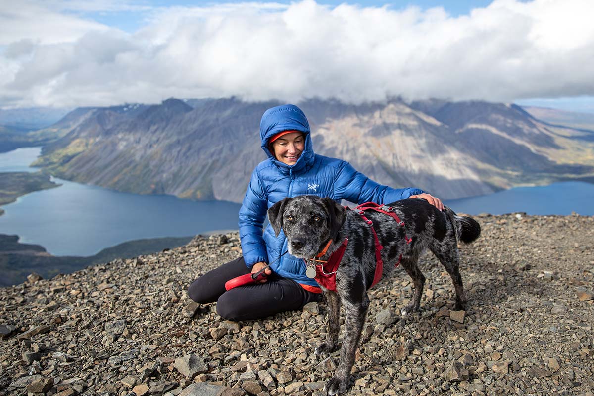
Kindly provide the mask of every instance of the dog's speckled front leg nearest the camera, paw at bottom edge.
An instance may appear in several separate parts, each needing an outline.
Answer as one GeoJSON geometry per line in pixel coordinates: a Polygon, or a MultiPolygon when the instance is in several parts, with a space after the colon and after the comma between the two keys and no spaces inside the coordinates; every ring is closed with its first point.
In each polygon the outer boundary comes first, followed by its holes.
{"type": "Polygon", "coordinates": [[[353,368],[353,363],[355,363],[357,344],[359,338],[361,338],[368,306],[367,293],[365,293],[361,302],[345,302],[346,323],[342,349],[340,350],[340,363],[334,376],[330,378],[324,388],[328,395],[346,392],[349,386],[350,369],[353,368]]]}

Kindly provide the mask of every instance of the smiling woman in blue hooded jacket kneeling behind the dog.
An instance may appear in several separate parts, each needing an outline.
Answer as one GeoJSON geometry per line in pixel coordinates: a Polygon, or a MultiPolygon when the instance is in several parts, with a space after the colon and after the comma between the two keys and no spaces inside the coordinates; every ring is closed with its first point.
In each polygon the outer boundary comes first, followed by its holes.
{"type": "Polygon", "coordinates": [[[305,275],[303,259],[289,254],[281,232],[270,224],[262,233],[266,212],[286,197],[314,194],[336,201],[346,199],[388,203],[405,198],[424,198],[443,210],[441,201],[418,188],[393,189],[380,185],[343,160],[314,153],[309,123],[297,106],[286,104],[266,110],[260,122],[262,148],[268,159],[252,173],[239,210],[242,257],[223,264],[188,288],[197,303],[217,302],[217,312],[230,321],[261,319],[275,313],[296,311],[319,301],[321,289],[305,275]],[[270,263],[267,278],[260,283],[225,290],[225,282],[239,275],[256,273],[270,263]]]}

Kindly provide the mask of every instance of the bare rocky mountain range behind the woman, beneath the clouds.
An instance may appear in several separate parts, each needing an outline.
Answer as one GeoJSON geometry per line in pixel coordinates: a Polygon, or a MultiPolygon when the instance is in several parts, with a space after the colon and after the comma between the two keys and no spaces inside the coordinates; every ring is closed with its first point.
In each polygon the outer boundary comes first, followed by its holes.
{"type": "MultiPolygon", "coordinates": [[[[37,132],[60,138],[43,148],[36,166],[120,191],[241,202],[252,170],[266,159],[260,117],[277,104],[172,98],[77,109],[37,132]]],[[[594,132],[539,121],[515,105],[298,104],[317,153],[345,159],[380,183],[444,199],[594,175],[594,132]]]]}

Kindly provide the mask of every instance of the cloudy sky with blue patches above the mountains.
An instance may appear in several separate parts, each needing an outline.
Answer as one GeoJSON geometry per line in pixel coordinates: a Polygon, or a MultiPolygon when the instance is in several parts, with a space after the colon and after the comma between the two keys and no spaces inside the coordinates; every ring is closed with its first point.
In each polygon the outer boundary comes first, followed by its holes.
{"type": "Polygon", "coordinates": [[[0,108],[401,96],[594,113],[592,15],[592,0],[0,0],[0,108]]]}

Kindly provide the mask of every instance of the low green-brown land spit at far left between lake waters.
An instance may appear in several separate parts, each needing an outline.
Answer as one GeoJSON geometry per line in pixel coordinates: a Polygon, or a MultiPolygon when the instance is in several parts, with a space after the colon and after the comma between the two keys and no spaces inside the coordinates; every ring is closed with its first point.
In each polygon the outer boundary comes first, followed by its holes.
{"type": "MultiPolygon", "coordinates": [[[[60,186],[50,181],[49,175],[43,172],[7,172],[0,173],[0,205],[16,201],[21,195],[29,192],[60,186]]],[[[4,211],[0,212],[0,216],[4,211]]]]}

